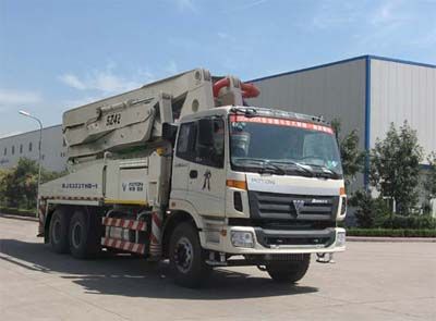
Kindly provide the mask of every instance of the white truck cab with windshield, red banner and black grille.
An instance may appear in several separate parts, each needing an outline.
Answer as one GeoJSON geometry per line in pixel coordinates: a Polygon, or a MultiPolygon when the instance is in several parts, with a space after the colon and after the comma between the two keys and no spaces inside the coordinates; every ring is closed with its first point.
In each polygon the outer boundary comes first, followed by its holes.
{"type": "Polygon", "coordinates": [[[178,124],[170,210],[226,254],[344,249],[346,195],[331,127],[308,116],[221,107],[178,124]]]}

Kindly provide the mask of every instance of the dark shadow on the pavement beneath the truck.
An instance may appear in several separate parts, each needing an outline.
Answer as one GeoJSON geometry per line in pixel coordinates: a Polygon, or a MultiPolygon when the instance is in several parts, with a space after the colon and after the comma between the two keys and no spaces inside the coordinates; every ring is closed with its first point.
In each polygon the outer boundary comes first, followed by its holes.
{"type": "Polygon", "coordinates": [[[243,272],[216,269],[199,289],[174,285],[168,264],[152,264],[130,255],[102,254],[96,260],[75,260],[57,255],[41,243],[0,239],[0,259],[40,273],[60,274],[81,285],[85,293],[168,299],[243,299],[314,293],[312,286],[277,284],[267,274],[252,276],[243,272]]]}

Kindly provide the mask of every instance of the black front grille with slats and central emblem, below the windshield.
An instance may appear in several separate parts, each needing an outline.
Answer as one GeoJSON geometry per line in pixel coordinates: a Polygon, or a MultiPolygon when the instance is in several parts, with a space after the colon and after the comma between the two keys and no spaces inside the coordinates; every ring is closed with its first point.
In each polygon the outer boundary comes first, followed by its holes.
{"type": "Polygon", "coordinates": [[[254,220],[328,221],[336,218],[339,196],[302,196],[249,192],[250,214],[254,220]]]}

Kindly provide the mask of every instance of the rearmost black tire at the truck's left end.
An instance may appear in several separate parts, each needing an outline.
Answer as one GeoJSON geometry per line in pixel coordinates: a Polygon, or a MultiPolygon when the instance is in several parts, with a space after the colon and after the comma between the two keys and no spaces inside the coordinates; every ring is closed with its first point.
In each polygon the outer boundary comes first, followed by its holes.
{"type": "Polygon", "coordinates": [[[57,254],[70,252],[70,230],[71,215],[62,209],[55,210],[49,227],[49,239],[51,249],[57,254]]]}

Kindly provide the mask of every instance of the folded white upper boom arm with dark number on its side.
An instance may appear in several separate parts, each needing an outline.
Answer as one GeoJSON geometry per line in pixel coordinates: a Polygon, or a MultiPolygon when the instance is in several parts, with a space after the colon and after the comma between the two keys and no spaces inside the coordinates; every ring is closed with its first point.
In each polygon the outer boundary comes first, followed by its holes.
{"type": "Polygon", "coordinates": [[[69,159],[144,145],[161,124],[215,107],[211,76],[197,69],[63,114],[69,159]]]}

